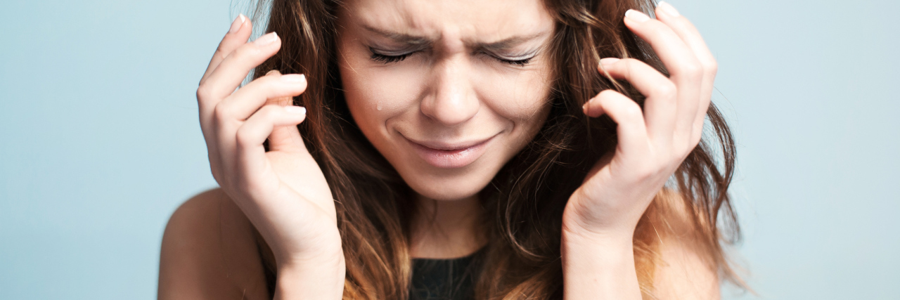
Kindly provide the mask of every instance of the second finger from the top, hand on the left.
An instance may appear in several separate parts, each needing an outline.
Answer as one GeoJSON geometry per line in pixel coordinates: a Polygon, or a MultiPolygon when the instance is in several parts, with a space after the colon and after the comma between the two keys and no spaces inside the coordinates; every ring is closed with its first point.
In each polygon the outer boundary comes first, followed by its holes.
{"type": "Polygon", "coordinates": [[[200,84],[197,89],[198,98],[207,100],[203,105],[214,107],[216,101],[234,93],[251,69],[275,55],[280,48],[281,39],[275,32],[271,32],[234,49],[200,84]]]}

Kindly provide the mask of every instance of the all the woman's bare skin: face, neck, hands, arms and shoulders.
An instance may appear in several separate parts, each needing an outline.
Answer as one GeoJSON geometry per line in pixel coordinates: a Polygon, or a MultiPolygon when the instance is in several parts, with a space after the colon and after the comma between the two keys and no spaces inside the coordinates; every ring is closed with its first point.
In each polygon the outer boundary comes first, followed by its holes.
{"type": "MultiPolygon", "coordinates": [[[[617,121],[619,146],[596,164],[563,214],[567,299],[641,298],[632,249],[635,225],[702,133],[715,59],[671,5],[661,4],[656,14],[658,20],[628,13],[625,22],[653,46],[670,77],[631,59],[605,59],[599,66],[599,72],[644,93],[645,110],[611,91],[585,105],[589,116],[607,114],[617,121]]],[[[413,256],[455,257],[477,250],[484,242],[473,217],[479,215],[476,193],[546,117],[550,62],[539,49],[553,30],[549,14],[539,1],[509,6],[499,0],[357,0],[340,13],[339,22],[339,66],[356,123],[417,192],[419,209],[435,213],[414,220],[413,256]],[[428,47],[385,64],[373,60],[368,48],[404,45],[371,29],[419,37],[427,41],[419,45],[428,47]],[[531,39],[503,51],[483,51],[486,43],[516,36],[531,39]],[[530,49],[538,50],[525,66],[502,57],[530,49]],[[417,160],[405,140],[454,144],[486,137],[491,137],[489,151],[459,168],[417,160]]],[[[159,297],[268,296],[255,250],[256,227],[278,269],[275,298],[338,299],[345,274],[335,207],[295,127],[304,111],[285,101],[304,91],[305,78],[270,73],[235,92],[249,70],[280,49],[271,33],[247,43],[250,31],[250,22],[238,17],[197,90],[211,170],[221,189],[189,200],[169,221],[159,297]],[[266,138],[269,152],[262,146],[266,138]]],[[[673,224],[661,235],[658,296],[717,298],[716,271],[705,262],[696,237],[674,234],[689,225],[673,224]]]]}

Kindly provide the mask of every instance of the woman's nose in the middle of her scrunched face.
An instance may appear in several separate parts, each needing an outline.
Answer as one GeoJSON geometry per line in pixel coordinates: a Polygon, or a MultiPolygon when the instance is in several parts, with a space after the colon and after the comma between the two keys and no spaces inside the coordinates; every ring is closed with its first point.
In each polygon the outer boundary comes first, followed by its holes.
{"type": "Polygon", "coordinates": [[[481,103],[473,91],[471,68],[464,57],[453,57],[435,64],[428,93],[419,109],[429,118],[454,127],[472,119],[481,103]]]}

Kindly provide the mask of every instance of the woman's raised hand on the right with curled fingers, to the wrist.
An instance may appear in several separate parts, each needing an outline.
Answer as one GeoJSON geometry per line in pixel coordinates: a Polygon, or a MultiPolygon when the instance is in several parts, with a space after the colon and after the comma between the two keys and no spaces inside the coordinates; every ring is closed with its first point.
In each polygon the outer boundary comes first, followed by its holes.
{"type": "Polygon", "coordinates": [[[656,15],[629,11],[625,24],[653,47],[670,76],[633,58],[600,61],[600,72],[627,80],[646,101],[641,110],[622,93],[606,90],[584,105],[588,116],[607,114],[617,122],[618,145],[572,193],[563,214],[566,234],[630,241],[654,196],[700,141],[716,59],[670,4],[660,4],[656,15]]]}

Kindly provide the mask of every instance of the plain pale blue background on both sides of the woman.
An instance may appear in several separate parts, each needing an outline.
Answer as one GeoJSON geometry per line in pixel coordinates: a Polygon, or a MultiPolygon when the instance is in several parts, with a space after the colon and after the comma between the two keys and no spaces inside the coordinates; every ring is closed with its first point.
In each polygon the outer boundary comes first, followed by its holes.
{"type": "MultiPolygon", "coordinates": [[[[671,2],[721,65],[761,298],[898,298],[900,5],[671,2]]],[[[193,93],[232,6],[0,5],[0,299],[156,297],[167,217],[215,185],[193,93]]]]}

